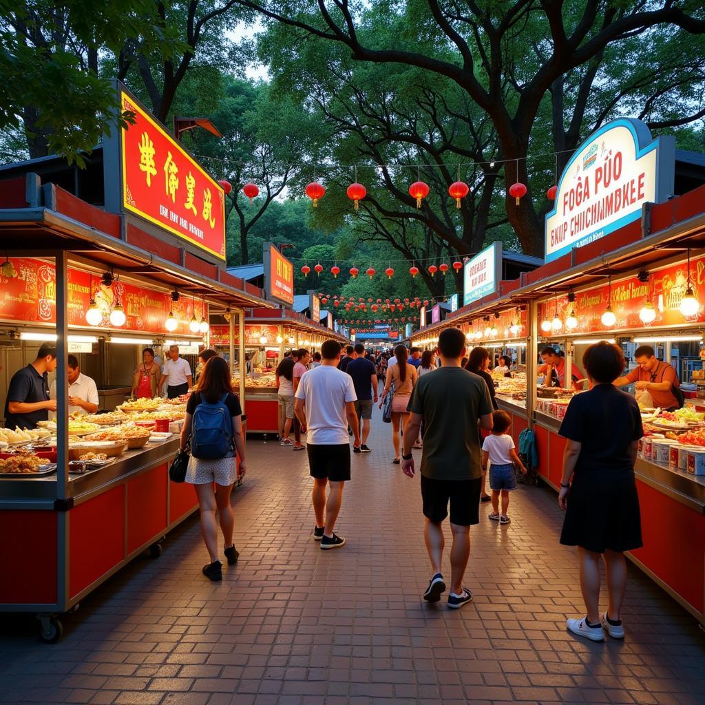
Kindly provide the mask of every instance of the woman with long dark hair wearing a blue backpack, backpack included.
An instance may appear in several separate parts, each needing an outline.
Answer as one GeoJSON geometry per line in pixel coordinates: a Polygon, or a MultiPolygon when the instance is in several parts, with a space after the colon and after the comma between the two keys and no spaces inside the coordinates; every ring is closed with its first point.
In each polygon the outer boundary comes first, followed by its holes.
{"type": "Polygon", "coordinates": [[[228,565],[238,562],[239,554],[233,544],[235,515],[230,494],[238,474],[235,449],[240,458],[240,477],[245,474],[242,414],[240,400],[231,386],[228,363],[222,357],[212,357],[203,368],[197,390],[188,400],[181,448],[190,443],[185,481],[195,486],[201,512],[201,534],[211,559],[204,565],[203,574],[214,581],[223,579],[223,564],[218,558],[219,522],[228,565]],[[216,520],[216,510],[219,521],[216,520]]]}

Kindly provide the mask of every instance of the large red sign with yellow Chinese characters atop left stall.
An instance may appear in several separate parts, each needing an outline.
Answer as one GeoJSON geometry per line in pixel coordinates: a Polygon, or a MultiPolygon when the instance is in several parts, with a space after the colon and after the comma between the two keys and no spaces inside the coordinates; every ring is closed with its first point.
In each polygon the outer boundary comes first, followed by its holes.
{"type": "Polygon", "coordinates": [[[123,207],[225,260],[225,193],[130,96],[136,122],[122,130],[123,207]]]}

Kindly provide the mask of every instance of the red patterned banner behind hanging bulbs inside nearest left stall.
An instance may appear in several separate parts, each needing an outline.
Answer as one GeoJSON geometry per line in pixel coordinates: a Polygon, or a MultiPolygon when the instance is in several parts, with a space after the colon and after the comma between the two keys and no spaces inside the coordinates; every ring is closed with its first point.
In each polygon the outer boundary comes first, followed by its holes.
{"type": "MultiPolygon", "coordinates": [[[[16,278],[0,275],[0,319],[23,323],[56,323],[56,267],[50,262],[30,257],[11,258],[18,272],[16,278]]],[[[190,333],[192,317],[198,321],[208,319],[208,307],[182,297],[171,301],[168,293],[145,289],[134,284],[114,281],[104,286],[100,278],[86,271],[68,267],[68,301],[66,319],[69,326],[88,326],[85,314],[90,306],[91,295],[103,318],[96,328],[114,328],[110,314],[119,301],[125,311],[126,321],[120,330],[143,331],[168,335],[166,317],[173,312],[178,327],[172,334],[190,333]]]]}

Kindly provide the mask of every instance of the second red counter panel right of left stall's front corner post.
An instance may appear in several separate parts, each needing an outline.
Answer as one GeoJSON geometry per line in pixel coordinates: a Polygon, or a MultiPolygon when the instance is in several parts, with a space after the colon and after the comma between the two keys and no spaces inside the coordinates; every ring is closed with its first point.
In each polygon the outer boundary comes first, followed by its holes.
{"type": "Polygon", "coordinates": [[[166,462],[128,482],[128,554],[166,529],[166,462]]]}

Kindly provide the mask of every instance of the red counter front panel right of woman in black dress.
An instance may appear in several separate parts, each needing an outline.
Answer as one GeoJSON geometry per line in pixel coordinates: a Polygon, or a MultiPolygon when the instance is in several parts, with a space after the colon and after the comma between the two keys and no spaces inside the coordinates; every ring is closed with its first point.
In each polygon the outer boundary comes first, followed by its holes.
{"type": "Polygon", "coordinates": [[[644,548],[632,555],[702,612],[705,516],[639,480],[637,490],[644,548]]]}

